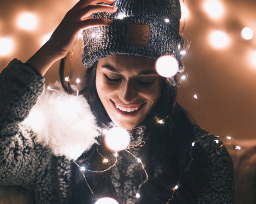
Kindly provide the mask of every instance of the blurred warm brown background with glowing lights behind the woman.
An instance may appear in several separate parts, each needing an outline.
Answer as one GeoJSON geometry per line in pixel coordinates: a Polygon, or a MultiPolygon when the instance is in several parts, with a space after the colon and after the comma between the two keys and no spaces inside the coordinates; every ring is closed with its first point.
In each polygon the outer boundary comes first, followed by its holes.
{"type": "MultiPolygon", "coordinates": [[[[77,1],[1,0],[0,71],[14,57],[26,62],[77,1]]],[[[183,57],[189,78],[181,79],[178,101],[217,135],[256,138],[256,1],[184,1],[181,34],[185,18],[185,47],[191,45],[183,57]]],[[[74,50],[81,47],[82,39],[74,50]]],[[[46,84],[59,80],[58,66],[46,73],[46,84]]]]}

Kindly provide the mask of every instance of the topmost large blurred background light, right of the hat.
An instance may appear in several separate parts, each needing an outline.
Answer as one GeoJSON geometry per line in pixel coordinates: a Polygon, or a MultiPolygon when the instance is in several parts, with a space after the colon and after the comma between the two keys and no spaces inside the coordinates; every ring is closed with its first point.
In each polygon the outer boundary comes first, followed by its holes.
{"type": "Polygon", "coordinates": [[[224,6],[219,0],[205,0],[203,8],[211,19],[220,19],[224,14],[224,6]]]}

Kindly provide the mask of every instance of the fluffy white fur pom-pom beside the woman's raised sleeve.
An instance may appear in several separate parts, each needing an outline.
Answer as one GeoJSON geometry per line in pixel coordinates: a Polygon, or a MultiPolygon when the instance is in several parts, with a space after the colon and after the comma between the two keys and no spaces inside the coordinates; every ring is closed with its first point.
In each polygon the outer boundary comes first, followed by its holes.
{"type": "Polygon", "coordinates": [[[58,92],[45,90],[24,122],[37,133],[36,142],[56,156],[76,160],[97,143],[98,126],[83,96],[58,92]]]}

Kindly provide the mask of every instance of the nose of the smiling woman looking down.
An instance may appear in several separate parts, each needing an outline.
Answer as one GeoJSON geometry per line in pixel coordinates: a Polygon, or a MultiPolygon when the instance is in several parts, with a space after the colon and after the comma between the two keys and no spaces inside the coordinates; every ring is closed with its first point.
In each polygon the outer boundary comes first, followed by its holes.
{"type": "Polygon", "coordinates": [[[137,96],[138,90],[132,81],[122,83],[121,86],[119,86],[119,98],[125,104],[134,102],[137,96]]]}

